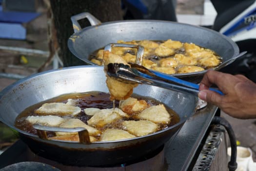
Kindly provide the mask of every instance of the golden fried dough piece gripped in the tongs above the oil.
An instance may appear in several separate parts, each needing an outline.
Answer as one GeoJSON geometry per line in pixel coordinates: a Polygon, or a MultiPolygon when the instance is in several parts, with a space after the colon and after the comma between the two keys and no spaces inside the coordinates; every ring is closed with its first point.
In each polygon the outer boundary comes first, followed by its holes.
{"type": "MultiPolygon", "coordinates": [[[[127,64],[127,62],[122,57],[115,55],[109,51],[104,51],[103,63],[104,65],[110,63],[127,64]]],[[[107,74],[106,77],[106,84],[110,92],[110,100],[127,99],[133,93],[133,88],[138,85],[120,82],[114,78],[109,77],[107,74]]]]}

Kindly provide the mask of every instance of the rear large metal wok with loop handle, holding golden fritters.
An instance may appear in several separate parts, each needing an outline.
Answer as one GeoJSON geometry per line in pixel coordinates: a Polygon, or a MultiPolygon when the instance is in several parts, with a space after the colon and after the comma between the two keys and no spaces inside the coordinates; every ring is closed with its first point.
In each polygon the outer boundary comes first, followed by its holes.
{"type": "MultiPolygon", "coordinates": [[[[70,51],[87,64],[89,55],[95,50],[118,40],[167,40],[195,43],[214,50],[223,58],[223,62],[234,58],[239,48],[230,38],[208,28],[156,20],[112,21],[101,23],[90,13],[81,13],[71,17],[74,34],[68,40],[70,51]],[[78,20],[87,18],[91,26],[81,29],[78,20]]],[[[176,77],[198,83],[206,71],[173,74],[176,77]]]]}

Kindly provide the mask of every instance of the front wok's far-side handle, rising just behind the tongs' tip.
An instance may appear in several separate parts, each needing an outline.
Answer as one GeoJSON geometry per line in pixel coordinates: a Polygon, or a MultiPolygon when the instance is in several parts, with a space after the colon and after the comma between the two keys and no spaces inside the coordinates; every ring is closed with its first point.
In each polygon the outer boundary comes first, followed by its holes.
{"type": "Polygon", "coordinates": [[[137,48],[136,54],[136,64],[142,65],[143,64],[143,54],[144,54],[144,47],[138,44],[124,44],[124,43],[110,43],[104,47],[104,50],[108,50],[111,52],[112,47],[131,47],[137,48]]]}

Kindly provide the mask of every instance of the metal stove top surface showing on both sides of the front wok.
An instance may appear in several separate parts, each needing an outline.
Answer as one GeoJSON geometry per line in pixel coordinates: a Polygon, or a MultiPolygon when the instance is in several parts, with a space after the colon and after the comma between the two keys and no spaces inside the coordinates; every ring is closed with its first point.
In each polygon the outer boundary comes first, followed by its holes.
{"type": "MultiPolygon", "coordinates": [[[[174,139],[165,144],[164,152],[168,171],[186,171],[190,167],[216,111],[217,107],[210,104],[197,110],[193,117],[185,122],[174,139]]],[[[14,163],[27,161],[24,157],[27,148],[19,140],[5,150],[0,155],[0,169],[14,163]]]]}

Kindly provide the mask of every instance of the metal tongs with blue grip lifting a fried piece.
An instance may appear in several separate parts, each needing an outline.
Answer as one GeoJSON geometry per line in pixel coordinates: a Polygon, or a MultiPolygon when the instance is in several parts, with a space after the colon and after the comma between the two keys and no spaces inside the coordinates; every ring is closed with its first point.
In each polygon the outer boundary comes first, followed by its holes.
{"type": "MultiPolygon", "coordinates": [[[[105,65],[104,69],[108,76],[114,77],[118,81],[125,83],[155,85],[179,92],[190,93],[196,96],[199,92],[199,85],[195,83],[187,82],[168,74],[150,70],[138,64],[129,64],[131,66],[126,64],[110,63],[105,65]]],[[[223,95],[221,91],[215,88],[210,88],[210,90],[223,95]]]]}

